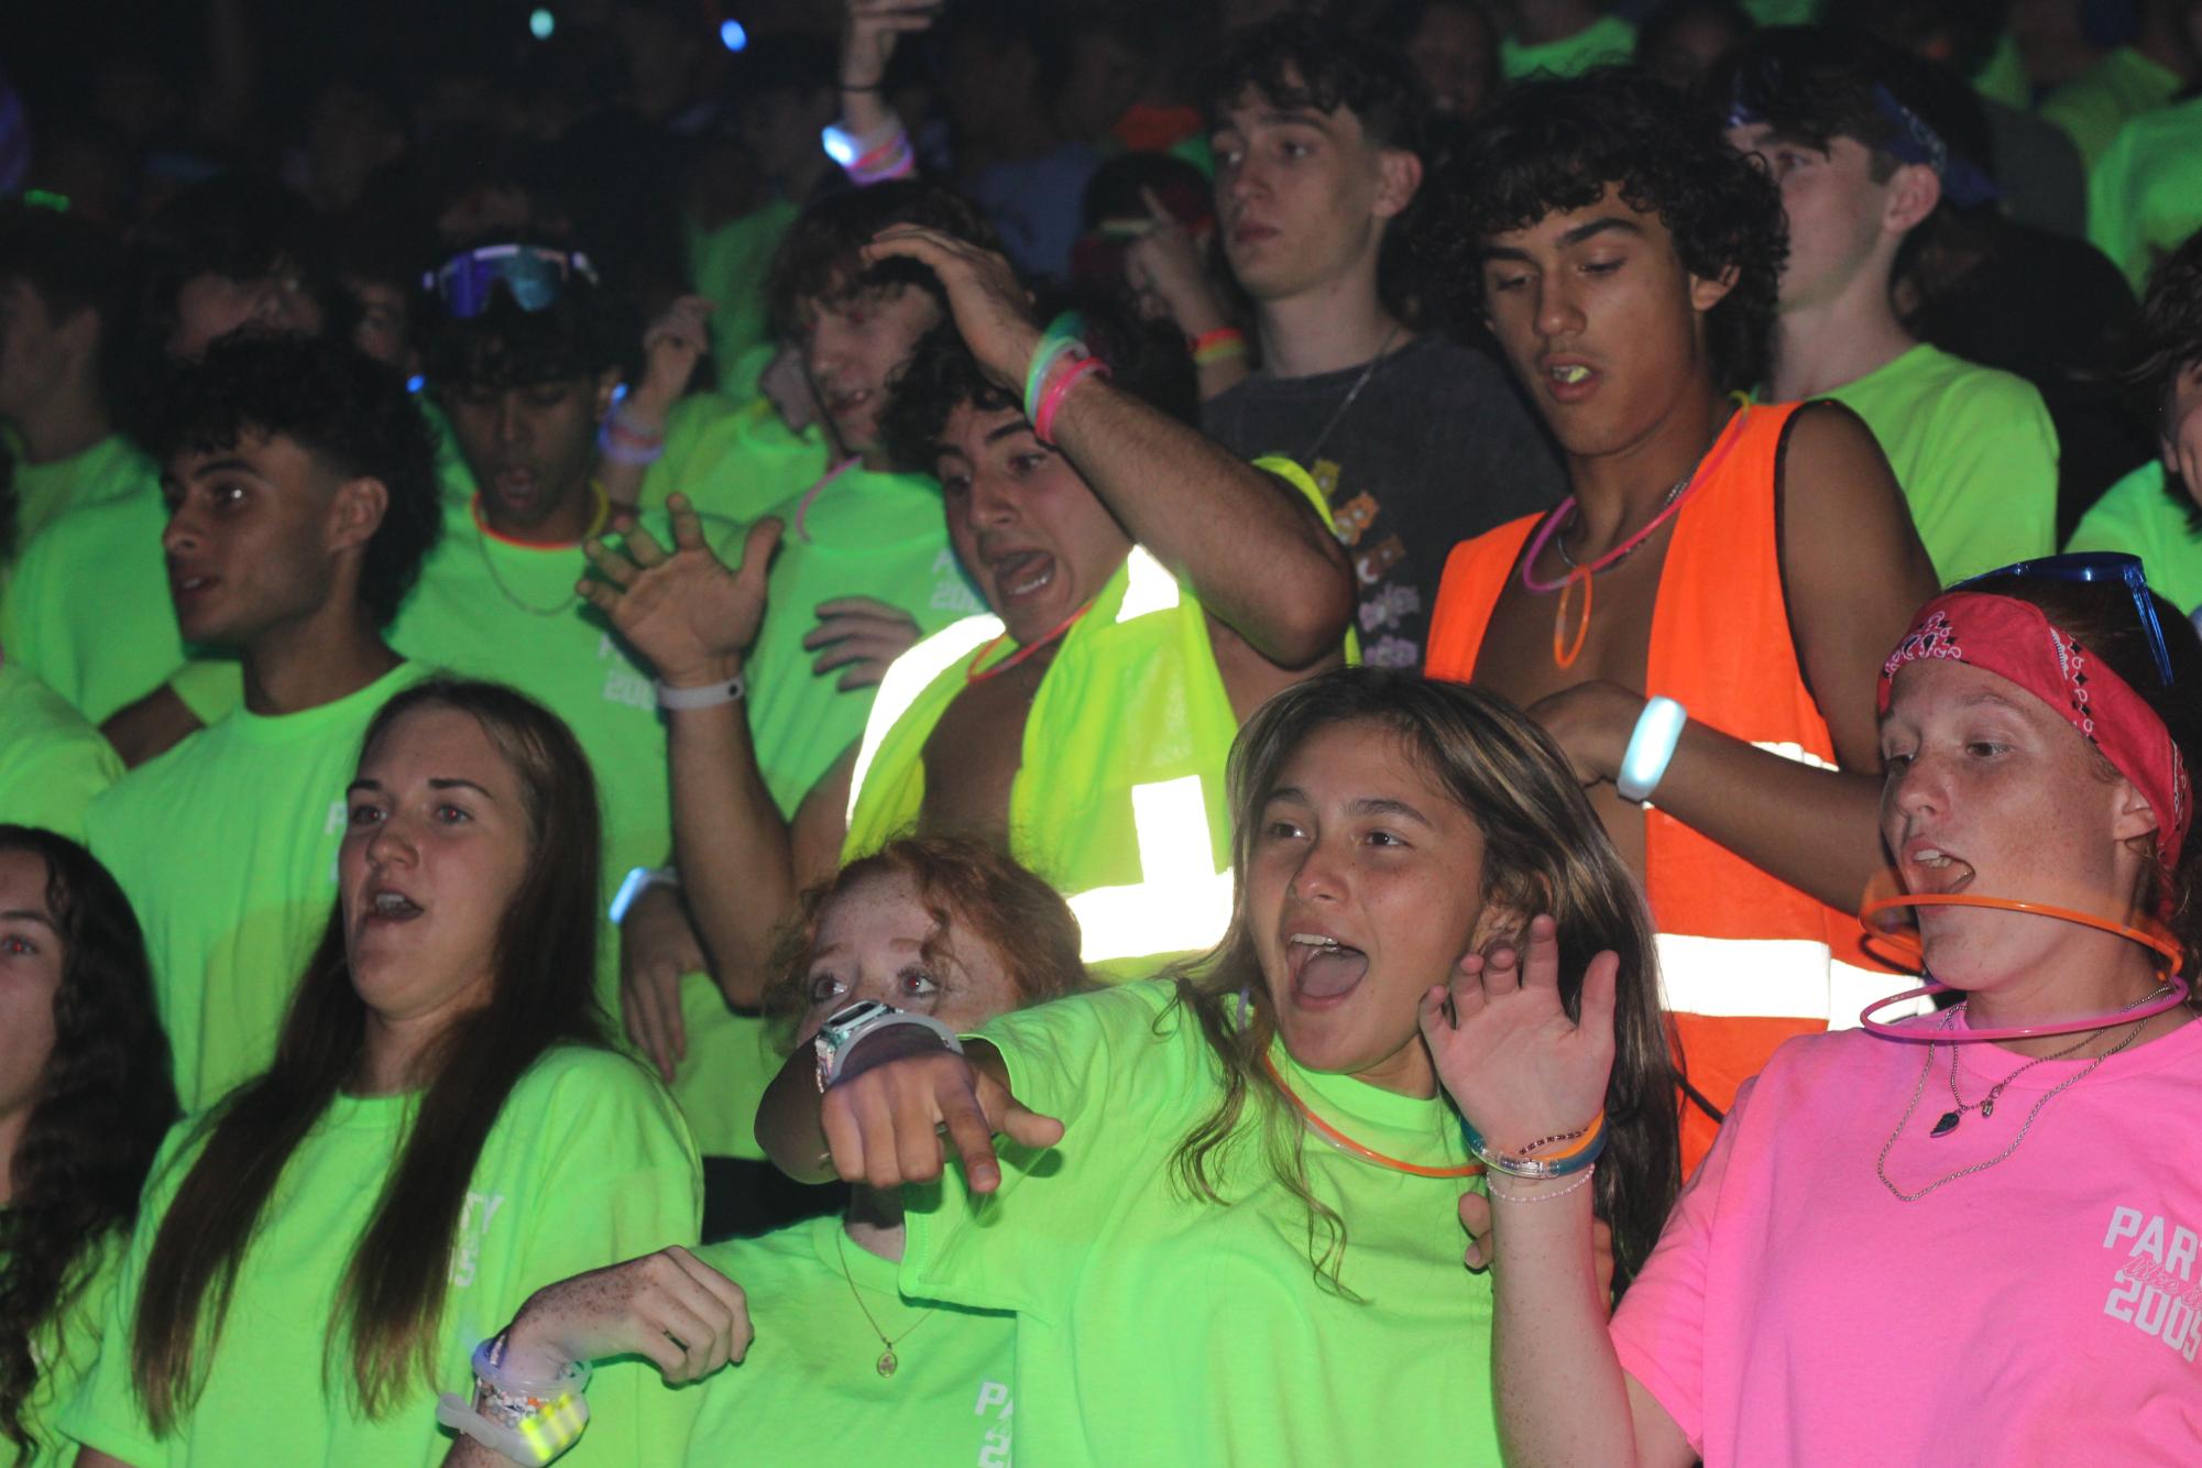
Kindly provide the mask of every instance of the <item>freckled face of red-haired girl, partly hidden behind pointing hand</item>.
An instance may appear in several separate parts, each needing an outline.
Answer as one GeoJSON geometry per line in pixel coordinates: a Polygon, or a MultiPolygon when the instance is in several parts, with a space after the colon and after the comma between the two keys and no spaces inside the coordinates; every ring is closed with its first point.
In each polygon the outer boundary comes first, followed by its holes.
{"type": "Polygon", "coordinates": [[[958,1034],[1022,1004],[1002,955],[953,916],[942,929],[916,883],[901,874],[852,883],[826,905],[804,997],[799,1043],[861,999],[931,1015],[958,1034]]]}

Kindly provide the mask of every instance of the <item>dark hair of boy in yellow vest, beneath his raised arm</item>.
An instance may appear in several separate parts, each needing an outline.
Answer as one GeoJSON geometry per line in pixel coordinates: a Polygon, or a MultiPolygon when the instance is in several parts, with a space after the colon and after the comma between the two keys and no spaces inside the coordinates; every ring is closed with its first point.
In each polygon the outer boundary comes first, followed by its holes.
{"type": "MultiPolygon", "coordinates": [[[[1077,288],[1042,293],[1037,319],[1053,321],[1064,310],[1086,317],[1081,337],[1092,354],[1108,363],[1116,387],[1187,427],[1200,427],[1200,379],[1176,328],[1143,321],[1114,293],[1077,288]]],[[[1015,392],[995,387],[980,372],[978,359],[949,319],[918,341],[894,376],[887,407],[879,416],[887,458],[907,473],[931,473],[940,434],[964,403],[982,412],[1024,405],[1015,392]]]]}

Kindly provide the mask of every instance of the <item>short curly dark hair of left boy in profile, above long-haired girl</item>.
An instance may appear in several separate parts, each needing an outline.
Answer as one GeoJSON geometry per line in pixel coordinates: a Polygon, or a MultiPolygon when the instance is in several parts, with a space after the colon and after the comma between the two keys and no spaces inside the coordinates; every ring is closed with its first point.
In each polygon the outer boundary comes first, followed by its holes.
{"type": "Polygon", "coordinates": [[[368,541],[359,601],[390,625],[443,533],[436,438],[388,365],[328,337],[225,337],[178,363],[145,429],[148,449],[229,449],[247,431],[295,440],[328,469],[381,480],[390,495],[368,541]]]}

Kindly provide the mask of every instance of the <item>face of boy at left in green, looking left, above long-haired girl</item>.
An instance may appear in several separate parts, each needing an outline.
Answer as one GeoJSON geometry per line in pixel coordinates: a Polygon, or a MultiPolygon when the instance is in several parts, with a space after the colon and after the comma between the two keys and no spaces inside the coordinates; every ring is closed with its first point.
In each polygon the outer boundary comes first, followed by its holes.
{"type": "Polygon", "coordinates": [[[333,478],[295,440],[251,431],[170,460],[161,548],[185,640],[244,647],[328,603],[333,478]]]}

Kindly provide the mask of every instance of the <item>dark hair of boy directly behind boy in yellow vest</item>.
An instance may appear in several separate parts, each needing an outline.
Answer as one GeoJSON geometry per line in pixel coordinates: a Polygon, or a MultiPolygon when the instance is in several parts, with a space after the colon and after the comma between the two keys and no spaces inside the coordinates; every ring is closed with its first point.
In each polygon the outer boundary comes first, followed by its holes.
{"type": "Polygon", "coordinates": [[[916,260],[883,260],[865,266],[857,251],[890,224],[923,224],[945,235],[1000,251],[1002,238],[969,198],[925,178],[896,178],[870,189],[848,189],[815,200],[788,224],[764,277],[764,302],[773,332],[782,341],[804,335],[804,310],[813,302],[843,302],[879,286],[923,286],[940,310],[947,293],[916,260]]]}

